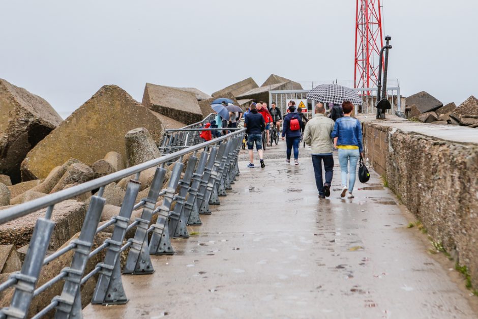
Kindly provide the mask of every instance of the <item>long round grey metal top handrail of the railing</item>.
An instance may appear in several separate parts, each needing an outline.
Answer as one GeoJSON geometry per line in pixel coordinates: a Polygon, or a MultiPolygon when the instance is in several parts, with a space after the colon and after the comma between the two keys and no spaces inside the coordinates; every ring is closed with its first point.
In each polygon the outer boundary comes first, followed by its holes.
{"type": "Polygon", "coordinates": [[[203,149],[207,146],[211,146],[213,144],[216,144],[217,142],[220,142],[222,140],[228,139],[232,135],[236,135],[239,133],[242,133],[243,131],[246,131],[246,129],[240,129],[235,132],[223,135],[221,137],[214,138],[210,141],[205,141],[200,144],[196,144],[194,146],[191,146],[187,149],[177,151],[162,157],[158,157],[156,159],[129,167],[125,168],[123,170],[119,170],[117,172],[111,173],[109,175],[97,178],[92,181],[85,182],[80,185],[76,185],[64,190],[61,190],[59,192],[49,194],[47,196],[43,196],[31,201],[27,201],[23,204],[17,205],[12,208],[8,208],[5,210],[0,211],[0,224],[3,224],[7,221],[13,220],[18,217],[22,217],[25,215],[28,215],[30,213],[36,212],[42,208],[46,208],[48,206],[52,206],[57,204],[58,202],[61,202],[63,200],[66,200],[68,198],[72,198],[81,194],[84,194],[87,191],[92,191],[94,189],[98,189],[102,186],[108,185],[112,182],[121,180],[125,177],[129,177],[131,175],[135,175],[138,172],[141,172],[145,169],[155,167],[157,165],[170,162],[173,159],[176,159],[178,157],[184,156],[186,154],[189,154],[191,152],[203,149]]]}

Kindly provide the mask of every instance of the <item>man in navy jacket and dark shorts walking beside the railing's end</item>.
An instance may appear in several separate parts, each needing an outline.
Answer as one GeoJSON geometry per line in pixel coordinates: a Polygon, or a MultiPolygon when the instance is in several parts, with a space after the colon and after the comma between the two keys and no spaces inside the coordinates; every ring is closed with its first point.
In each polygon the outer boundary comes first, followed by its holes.
{"type": "Polygon", "coordinates": [[[251,111],[246,115],[244,127],[247,133],[247,148],[249,150],[250,163],[249,168],[254,168],[254,142],[259,153],[260,167],[264,168],[264,160],[262,159],[262,131],[265,129],[264,117],[257,111],[256,103],[251,104],[251,111]]]}

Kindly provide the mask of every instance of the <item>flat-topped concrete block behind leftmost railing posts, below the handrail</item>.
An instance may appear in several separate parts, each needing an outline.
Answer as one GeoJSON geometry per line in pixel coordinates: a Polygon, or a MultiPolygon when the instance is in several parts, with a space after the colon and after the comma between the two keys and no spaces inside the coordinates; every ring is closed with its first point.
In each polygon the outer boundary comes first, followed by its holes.
{"type": "MultiPolygon", "coordinates": [[[[20,248],[30,242],[37,219],[44,217],[46,208],[0,225],[0,244],[20,248]]],[[[86,205],[76,200],[65,200],[55,205],[51,220],[55,228],[49,248],[56,250],[78,233],[83,224],[86,205]]]]}

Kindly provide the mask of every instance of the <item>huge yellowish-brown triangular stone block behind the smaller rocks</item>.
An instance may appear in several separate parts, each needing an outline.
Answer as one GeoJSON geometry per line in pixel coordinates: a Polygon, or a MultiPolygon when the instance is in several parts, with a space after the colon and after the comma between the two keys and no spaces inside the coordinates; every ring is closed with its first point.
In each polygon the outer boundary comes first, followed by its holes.
{"type": "Polygon", "coordinates": [[[45,178],[70,158],[88,166],[110,151],[126,158],[124,136],[136,127],[147,128],[155,142],[161,142],[159,114],[119,86],[105,85],[28,153],[21,166],[23,179],[45,178]]]}

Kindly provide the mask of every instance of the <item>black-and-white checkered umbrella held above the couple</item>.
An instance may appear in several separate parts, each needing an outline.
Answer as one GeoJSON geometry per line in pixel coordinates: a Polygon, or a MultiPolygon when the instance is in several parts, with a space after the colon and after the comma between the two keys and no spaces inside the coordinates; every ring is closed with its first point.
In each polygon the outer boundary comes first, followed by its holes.
{"type": "Polygon", "coordinates": [[[362,105],[363,101],[355,91],[339,84],[321,84],[310,90],[307,98],[323,102],[342,104],[345,101],[352,102],[354,105],[362,105]]]}

